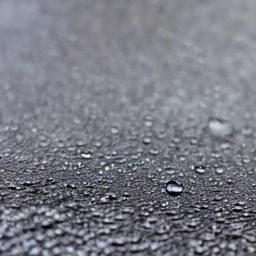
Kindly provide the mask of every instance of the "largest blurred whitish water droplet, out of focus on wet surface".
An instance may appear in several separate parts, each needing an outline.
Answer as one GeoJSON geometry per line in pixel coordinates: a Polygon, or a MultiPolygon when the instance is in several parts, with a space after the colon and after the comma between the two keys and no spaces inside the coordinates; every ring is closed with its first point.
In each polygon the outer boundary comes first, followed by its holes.
{"type": "Polygon", "coordinates": [[[233,132],[233,125],[229,121],[217,117],[209,118],[208,127],[215,136],[228,136],[233,132]]]}

